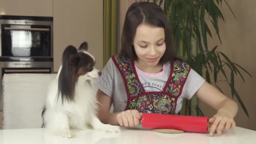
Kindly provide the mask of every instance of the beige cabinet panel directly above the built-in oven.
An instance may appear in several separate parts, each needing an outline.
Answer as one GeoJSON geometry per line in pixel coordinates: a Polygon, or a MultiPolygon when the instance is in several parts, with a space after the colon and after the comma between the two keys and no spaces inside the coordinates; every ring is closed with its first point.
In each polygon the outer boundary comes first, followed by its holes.
{"type": "Polygon", "coordinates": [[[53,16],[53,0],[0,0],[0,14],[53,16]]]}

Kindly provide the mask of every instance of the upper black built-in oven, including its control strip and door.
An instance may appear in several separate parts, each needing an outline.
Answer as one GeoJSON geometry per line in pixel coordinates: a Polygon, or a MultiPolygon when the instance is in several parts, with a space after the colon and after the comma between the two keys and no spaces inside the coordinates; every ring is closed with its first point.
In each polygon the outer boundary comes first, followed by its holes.
{"type": "Polygon", "coordinates": [[[53,18],[0,16],[0,56],[53,56],[53,18]]]}

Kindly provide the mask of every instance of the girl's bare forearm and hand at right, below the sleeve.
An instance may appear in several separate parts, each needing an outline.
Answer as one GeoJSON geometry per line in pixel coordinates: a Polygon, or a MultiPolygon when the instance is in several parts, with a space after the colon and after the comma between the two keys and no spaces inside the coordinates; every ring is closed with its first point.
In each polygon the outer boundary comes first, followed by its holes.
{"type": "Polygon", "coordinates": [[[217,114],[209,119],[209,123],[212,124],[210,135],[213,135],[215,130],[218,134],[221,134],[223,129],[235,127],[234,117],[238,111],[235,101],[229,99],[207,82],[203,83],[195,95],[206,104],[218,110],[217,114]]]}

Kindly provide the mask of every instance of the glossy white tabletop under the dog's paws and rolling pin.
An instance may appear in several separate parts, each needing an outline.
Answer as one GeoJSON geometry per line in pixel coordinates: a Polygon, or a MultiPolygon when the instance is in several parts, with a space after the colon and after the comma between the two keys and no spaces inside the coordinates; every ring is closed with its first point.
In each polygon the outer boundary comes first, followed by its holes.
{"type": "Polygon", "coordinates": [[[221,136],[204,133],[166,134],[149,130],[122,129],[120,133],[72,130],[75,136],[63,139],[43,128],[0,130],[0,144],[256,144],[256,131],[236,127],[221,136]]]}

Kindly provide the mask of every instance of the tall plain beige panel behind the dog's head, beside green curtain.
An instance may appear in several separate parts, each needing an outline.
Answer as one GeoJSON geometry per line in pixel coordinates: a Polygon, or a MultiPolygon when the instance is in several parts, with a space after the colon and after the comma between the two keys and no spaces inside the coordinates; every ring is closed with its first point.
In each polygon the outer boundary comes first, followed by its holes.
{"type": "Polygon", "coordinates": [[[58,71],[67,45],[78,47],[88,42],[89,52],[96,58],[96,67],[103,67],[103,1],[53,1],[54,71],[58,71]]]}

